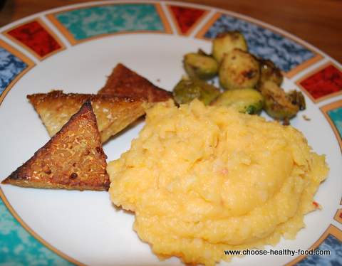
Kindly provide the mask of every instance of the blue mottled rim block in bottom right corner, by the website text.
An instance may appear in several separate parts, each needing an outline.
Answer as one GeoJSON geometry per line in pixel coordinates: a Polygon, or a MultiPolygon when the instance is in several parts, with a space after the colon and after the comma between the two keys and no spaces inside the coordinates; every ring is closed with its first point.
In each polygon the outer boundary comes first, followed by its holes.
{"type": "Polygon", "coordinates": [[[342,245],[341,241],[335,238],[333,235],[328,237],[319,245],[318,250],[330,250],[331,255],[309,255],[301,262],[298,262],[298,266],[314,266],[314,265],[342,265],[342,245]]]}

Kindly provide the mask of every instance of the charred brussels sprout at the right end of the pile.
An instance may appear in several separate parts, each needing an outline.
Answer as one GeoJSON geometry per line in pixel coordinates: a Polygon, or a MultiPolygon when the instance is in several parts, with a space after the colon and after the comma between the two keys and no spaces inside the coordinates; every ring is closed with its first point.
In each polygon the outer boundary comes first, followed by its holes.
{"type": "Polygon", "coordinates": [[[299,111],[299,106],[291,102],[291,97],[273,81],[266,81],[260,87],[264,95],[264,110],[275,119],[291,119],[299,111]]]}

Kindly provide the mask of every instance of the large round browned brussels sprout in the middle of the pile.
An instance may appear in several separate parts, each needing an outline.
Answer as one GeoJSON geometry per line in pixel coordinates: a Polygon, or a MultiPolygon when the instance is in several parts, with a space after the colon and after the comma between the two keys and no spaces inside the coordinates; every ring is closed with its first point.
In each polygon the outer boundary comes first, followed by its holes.
{"type": "Polygon", "coordinates": [[[225,90],[252,88],[259,78],[259,62],[250,53],[234,49],[224,55],[219,68],[219,82],[225,90]]]}

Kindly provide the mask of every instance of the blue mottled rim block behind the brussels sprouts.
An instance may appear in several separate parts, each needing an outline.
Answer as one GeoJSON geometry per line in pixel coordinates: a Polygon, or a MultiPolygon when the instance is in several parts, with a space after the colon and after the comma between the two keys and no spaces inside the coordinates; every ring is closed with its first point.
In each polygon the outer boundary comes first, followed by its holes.
{"type": "Polygon", "coordinates": [[[242,32],[251,53],[272,60],[278,68],[286,72],[314,57],[311,50],[279,33],[228,15],[220,16],[204,37],[214,38],[217,33],[224,31],[242,32]]]}

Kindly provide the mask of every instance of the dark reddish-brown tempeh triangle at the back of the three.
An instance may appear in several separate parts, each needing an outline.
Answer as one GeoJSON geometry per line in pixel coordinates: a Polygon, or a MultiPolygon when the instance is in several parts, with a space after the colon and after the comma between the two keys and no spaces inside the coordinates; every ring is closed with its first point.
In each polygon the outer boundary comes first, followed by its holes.
{"type": "Polygon", "coordinates": [[[147,102],[164,102],[172,99],[172,93],[150,83],[146,78],[118,63],[108,77],[105,87],[98,94],[137,97],[147,102]]]}

